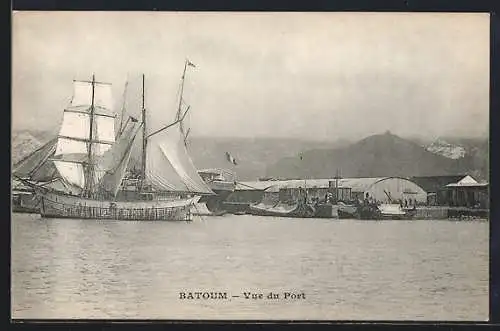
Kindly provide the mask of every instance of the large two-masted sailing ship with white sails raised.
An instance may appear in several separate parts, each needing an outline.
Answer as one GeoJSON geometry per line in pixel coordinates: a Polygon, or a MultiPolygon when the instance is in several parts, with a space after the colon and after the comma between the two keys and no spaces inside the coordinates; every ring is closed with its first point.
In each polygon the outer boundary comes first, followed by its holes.
{"type": "Polygon", "coordinates": [[[214,194],[186,150],[181,125],[187,110],[173,123],[147,131],[144,81],[143,75],[142,121],[129,116],[118,135],[111,84],[97,82],[94,76],[91,81],[73,82],[74,95],[64,109],[49,159],[64,185],[46,187],[19,178],[40,197],[42,217],[189,221],[190,209],[200,197],[214,194]],[[141,129],[139,185],[132,194],[118,194],[141,129]]]}

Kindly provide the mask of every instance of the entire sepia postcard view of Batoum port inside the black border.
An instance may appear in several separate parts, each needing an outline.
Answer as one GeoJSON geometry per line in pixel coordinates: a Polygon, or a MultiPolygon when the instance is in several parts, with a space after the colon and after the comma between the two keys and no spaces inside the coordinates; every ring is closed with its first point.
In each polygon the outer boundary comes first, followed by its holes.
{"type": "Polygon", "coordinates": [[[12,17],[13,319],[488,319],[488,14],[12,17]]]}

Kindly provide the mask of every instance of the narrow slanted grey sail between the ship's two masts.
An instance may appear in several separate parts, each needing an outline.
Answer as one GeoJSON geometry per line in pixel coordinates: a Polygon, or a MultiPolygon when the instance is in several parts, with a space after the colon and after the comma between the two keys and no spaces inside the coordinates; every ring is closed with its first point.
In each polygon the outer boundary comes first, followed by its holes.
{"type": "Polygon", "coordinates": [[[102,191],[113,196],[118,192],[130,160],[132,144],[140,127],[137,120],[128,121],[113,147],[97,159],[97,170],[103,172],[99,182],[99,188],[102,191]]]}

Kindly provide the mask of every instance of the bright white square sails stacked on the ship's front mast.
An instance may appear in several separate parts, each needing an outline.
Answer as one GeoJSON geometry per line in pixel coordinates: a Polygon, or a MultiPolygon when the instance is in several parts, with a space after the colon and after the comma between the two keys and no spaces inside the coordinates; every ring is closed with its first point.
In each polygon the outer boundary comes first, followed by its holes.
{"type": "MultiPolygon", "coordinates": [[[[115,116],[111,84],[74,81],[73,88],[71,104],[64,110],[53,161],[69,184],[83,189],[86,187],[85,165],[90,161],[89,148],[92,158],[111,148],[115,142],[115,116]]],[[[91,176],[93,184],[98,183],[103,175],[102,171],[94,171],[91,176]]]]}

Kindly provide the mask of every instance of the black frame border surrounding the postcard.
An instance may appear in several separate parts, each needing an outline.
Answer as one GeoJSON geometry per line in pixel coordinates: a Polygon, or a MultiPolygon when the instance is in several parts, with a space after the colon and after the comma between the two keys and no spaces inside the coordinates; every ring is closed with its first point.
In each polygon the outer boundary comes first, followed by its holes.
{"type": "MultiPolygon", "coordinates": [[[[462,329],[462,328],[484,328],[493,327],[494,325],[500,325],[500,224],[497,219],[500,218],[500,208],[498,208],[494,203],[494,198],[500,196],[499,186],[494,185],[498,182],[499,176],[496,176],[492,169],[500,169],[498,160],[495,153],[495,144],[498,142],[498,133],[495,130],[496,123],[498,122],[496,117],[497,113],[500,112],[500,17],[498,14],[498,9],[500,8],[500,2],[492,1],[482,1],[482,0],[376,0],[376,1],[362,1],[362,0],[340,0],[340,1],[330,1],[326,0],[309,0],[307,2],[298,1],[239,1],[238,3],[224,0],[215,1],[203,1],[203,0],[173,0],[173,1],[161,1],[161,0],[144,0],[144,1],[133,1],[133,0],[122,0],[122,1],[99,1],[99,0],[13,0],[11,6],[9,6],[9,16],[4,22],[7,22],[8,29],[4,31],[9,31],[7,35],[7,40],[9,42],[9,47],[11,45],[11,15],[12,10],[28,10],[28,11],[39,11],[39,10],[99,10],[99,11],[349,11],[349,12],[484,12],[490,13],[490,314],[489,322],[446,322],[446,321],[429,321],[429,322],[413,322],[413,321],[291,321],[291,320],[280,320],[280,321],[259,321],[259,320],[248,320],[248,321],[231,321],[231,320],[11,320],[11,301],[10,301],[10,199],[5,199],[6,205],[4,208],[0,209],[5,213],[5,220],[9,222],[3,222],[3,225],[8,227],[3,232],[7,234],[6,247],[3,252],[8,254],[8,276],[7,276],[7,289],[8,291],[8,301],[7,305],[9,307],[8,318],[10,321],[10,327],[14,328],[46,328],[49,330],[55,328],[113,328],[115,326],[148,326],[148,327],[198,327],[200,324],[209,325],[211,327],[241,327],[242,324],[247,327],[340,327],[340,328],[358,328],[358,327],[368,327],[370,329],[377,328],[397,328],[397,329],[408,329],[408,328],[434,328],[434,329],[462,329]]],[[[8,63],[8,73],[9,78],[11,77],[11,53],[9,51],[7,55],[8,63]]],[[[8,100],[8,106],[11,106],[10,98],[10,88],[11,81],[9,79],[7,89],[4,93],[7,96],[4,100],[8,100]]],[[[9,112],[10,120],[10,112],[9,112]]],[[[8,134],[6,140],[10,141],[10,121],[4,121],[2,124],[7,124],[9,127],[1,132],[8,134]]],[[[498,143],[500,144],[500,143],[498,143]]],[[[10,144],[8,145],[8,152],[10,155],[10,144]]],[[[7,160],[5,158],[4,160],[7,160]]],[[[10,160],[10,158],[9,158],[10,160]]],[[[5,173],[10,174],[11,163],[5,162],[7,169],[5,173]]],[[[9,176],[10,177],[10,176],[9,176]]],[[[10,178],[7,179],[5,176],[5,189],[6,195],[10,196],[10,178]]]]}

